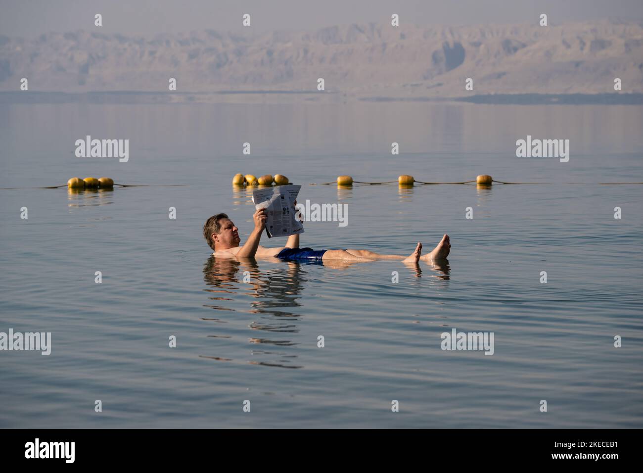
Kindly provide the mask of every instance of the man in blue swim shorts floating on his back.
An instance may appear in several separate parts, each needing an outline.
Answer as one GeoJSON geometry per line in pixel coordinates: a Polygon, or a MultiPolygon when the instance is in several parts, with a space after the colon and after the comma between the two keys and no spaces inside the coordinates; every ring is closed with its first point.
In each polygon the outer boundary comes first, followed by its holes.
{"type": "Polygon", "coordinates": [[[266,228],[266,209],[259,209],[253,215],[255,228],[243,246],[239,246],[239,228],[226,214],[217,214],[208,218],[203,225],[203,237],[214,250],[213,256],[243,257],[276,257],[285,261],[347,261],[366,263],[377,259],[400,259],[403,263],[422,261],[440,261],[446,259],[451,250],[449,236],[444,235],[440,243],[429,254],[422,255],[422,243],[417,243],[415,251],[408,257],[401,255],[381,255],[369,250],[313,250],[299,247],[299,235],[291,235],[285,246],[266,248],[259,245],[261,234],[266,228]]]}

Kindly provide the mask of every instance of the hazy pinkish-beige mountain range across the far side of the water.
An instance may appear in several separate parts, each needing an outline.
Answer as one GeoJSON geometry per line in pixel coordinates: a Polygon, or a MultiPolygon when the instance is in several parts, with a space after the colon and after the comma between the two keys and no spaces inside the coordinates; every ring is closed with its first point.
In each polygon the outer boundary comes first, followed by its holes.
{"type": "MultiPolygon", "coordinates": [[[[351,24],[247,35],[151,38],[95,30],[0,36],[0,91],[289,91],[310,100],[480,94],[643,93],[643,24],[351,24]],[[325,92],[317,91],[318,78],[325,92]],[[465,80],[473,79],[473,91],[465,80]],[[323,95],[327,97],[323,97],[323,95]]],[[[190,100],[208,100],[195,94],[190,100]],[[199,98],[201,97],[201,98],[199,98]]]]}

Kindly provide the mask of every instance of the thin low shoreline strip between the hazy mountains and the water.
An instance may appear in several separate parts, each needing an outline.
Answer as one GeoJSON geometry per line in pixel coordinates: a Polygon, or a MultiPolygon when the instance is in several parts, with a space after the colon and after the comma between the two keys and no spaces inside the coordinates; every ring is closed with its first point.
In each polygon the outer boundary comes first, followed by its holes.
{"type": "MultiPolygon", "coordinates": [[[[305,98],[306,103],[326,102],[318,100],[327,95],[341,98],[341,92],[285,91],[285,90],[221,90],[213,92],[153,92],[153,91],[93,91],[84,93],[0,91],[0,104],[199,104],[226,102],[224,96],[316,96],[305,98]]],[[[487,105],[643,105],[643,93],[602,93],[602,94],[489,94],[471,97],[358,97],[348,96],[344,100],[358,102],[466,102],[487,105]]],[[[248,102],[257,103],[256,98],[248,102]]]]}

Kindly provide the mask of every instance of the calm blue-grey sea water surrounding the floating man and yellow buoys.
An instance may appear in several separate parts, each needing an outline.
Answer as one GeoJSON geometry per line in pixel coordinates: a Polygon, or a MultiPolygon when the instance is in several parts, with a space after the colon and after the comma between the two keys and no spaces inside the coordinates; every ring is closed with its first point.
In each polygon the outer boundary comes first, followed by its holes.
{"type": "Polygon", "coordinates": [[[595,184],[643,181],[642,123],[638,106],[3,106],[0,187],[19,189],[0,190],[0,331],[53,346],[0,352],[0,427],[643,427],[643,186],[595,184]],[[129,162],[76,158],[86,134],[129,139],[129,162]],[[570,161],[516,158],[527,134],[570,139],[570,161]],[[448,233],[448,264],[214,261],[208,216],[251,230],[237,172],[349,205],[302,246],[409,254],[448,233]],[[544,184],[310,185],[483,173],[544,184]],[[33,189],[72,176],[149,187],[33,189]],[[442,351],[452,328],[493,332],[494,355],[442,351]]]}

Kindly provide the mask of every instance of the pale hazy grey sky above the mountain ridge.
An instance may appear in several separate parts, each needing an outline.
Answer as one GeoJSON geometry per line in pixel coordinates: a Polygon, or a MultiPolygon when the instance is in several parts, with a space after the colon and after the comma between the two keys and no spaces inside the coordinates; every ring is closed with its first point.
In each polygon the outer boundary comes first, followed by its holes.
{"type": "Polygon", "coordinates": [[[257,32],[381,23],[394,13],[401,23],[453,26],[536,23],[541,13],[550,24],[606,17],[643,21],[643,0],[0,0],[0,35],[91,30],[96,13],[103,15],[103,33],[149,37],[240,31],[246,13],[257,32]]]}

